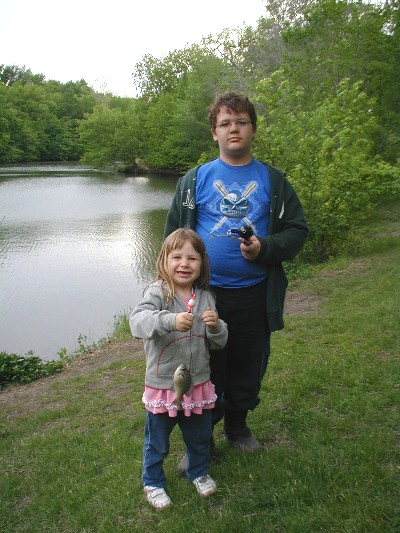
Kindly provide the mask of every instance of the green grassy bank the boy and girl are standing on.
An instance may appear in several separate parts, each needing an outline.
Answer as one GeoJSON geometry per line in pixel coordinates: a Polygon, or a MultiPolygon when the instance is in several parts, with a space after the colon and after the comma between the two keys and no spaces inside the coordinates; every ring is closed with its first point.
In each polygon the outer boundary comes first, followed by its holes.
{"type": "Polygon", "coordinates": [[[363,255],[295,283],[319,306],[288,317],[272,336],[261,404],[249,415],[264,450],[242,455],[218,428],[213,497],[201,500],[179,478],[176,429],[165,464],[173,506],[157,512],[146,504],[144,359],[117,360],[46,378],[40,407],[29,414],[17,395],[12,410],[1,410],[0,531],[400,531],[396,212],[370,228],[363,255]]]}

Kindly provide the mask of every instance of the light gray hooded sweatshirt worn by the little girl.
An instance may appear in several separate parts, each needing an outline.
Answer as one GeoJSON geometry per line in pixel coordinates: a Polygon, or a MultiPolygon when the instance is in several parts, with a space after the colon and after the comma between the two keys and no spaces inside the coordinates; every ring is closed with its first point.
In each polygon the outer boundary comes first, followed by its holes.
{"type": "Polygon", "coordinates": [[[176,315],[187,311],[185,304],[175,296],[167,305],[160,282],[151,285],[133,309],[129,325],[132,335],[144,340],[145,384],[149,387],[170,389],[174,372],[181,363],[190,370],[194,385],[210,379],[209,350],[225,346],[228,327],[219,319],[219,328],[210,330],[200,318],[207,307],[216,311],[211,292],[196,289],[195,302],[193,326],[187,332],[175,329],[176,315]]]}

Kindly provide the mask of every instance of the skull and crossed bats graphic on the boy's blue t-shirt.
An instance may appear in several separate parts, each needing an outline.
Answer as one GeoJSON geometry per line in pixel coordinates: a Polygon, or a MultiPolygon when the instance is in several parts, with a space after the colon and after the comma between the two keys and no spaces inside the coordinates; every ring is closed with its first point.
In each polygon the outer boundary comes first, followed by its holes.
{"type": "Polygon", "coordinates": [[[214,188],[221,194],[221,198],[217,198],[214,206],[209,206],[212,210],[221,213],[220,220],[215,224],[212,231],[218,230],[229,218],[243,219],[246,224],[252,226],[252,222],[247,218],[249,211],[254,210],[254,206],[249,198],[257,190],[258,183],[251,181],[244,187],[237,183],[232,184],[231,192],[229,192],[221,181],[214,181],[214,188]],[[253,209],[251,209],[253,207],[253,209]]]}

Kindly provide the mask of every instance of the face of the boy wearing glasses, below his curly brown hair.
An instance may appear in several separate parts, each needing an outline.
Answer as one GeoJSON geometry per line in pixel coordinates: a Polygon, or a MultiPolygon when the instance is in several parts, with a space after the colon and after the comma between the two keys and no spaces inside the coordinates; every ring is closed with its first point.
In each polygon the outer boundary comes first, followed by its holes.
{"type": "Polygon", "coordinates": [[[217,115],[217,125],[211,129],[218,142],[222,160],[241,160],[251,157],[251,143],[256,135],[246,112],[235,113],[226,106],[217,115]],[[241,123],[242,122],[242,123],[241,123]]]}

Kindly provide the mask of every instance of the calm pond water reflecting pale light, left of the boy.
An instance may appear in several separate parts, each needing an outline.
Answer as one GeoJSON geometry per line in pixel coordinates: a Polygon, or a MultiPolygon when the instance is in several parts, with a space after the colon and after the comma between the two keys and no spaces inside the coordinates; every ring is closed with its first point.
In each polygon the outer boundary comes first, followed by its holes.
{"type": "Polygon", "coordinates": [[[152,279],[176,179],[0,166],[0,351],[54,359],[111,333],[152,279]]]}

